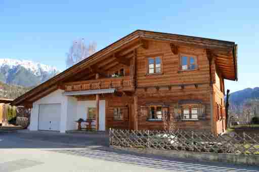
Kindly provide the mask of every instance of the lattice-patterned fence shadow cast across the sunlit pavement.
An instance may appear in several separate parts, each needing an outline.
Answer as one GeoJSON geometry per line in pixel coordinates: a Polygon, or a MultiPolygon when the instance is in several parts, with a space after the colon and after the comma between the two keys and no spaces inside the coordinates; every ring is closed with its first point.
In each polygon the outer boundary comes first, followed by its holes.
{"type": "Polygon", "coordinates": [[[232,165],[222,162],[197,162],[186,159],[149,156],[143,154],[128,153],[120,150],[113,150],[107,147],[99,147],[95,149],[64,149],[50,151],[164,170],[209,172],[255,172],[259,170],[259,167],[256,166],[232,165]]]}

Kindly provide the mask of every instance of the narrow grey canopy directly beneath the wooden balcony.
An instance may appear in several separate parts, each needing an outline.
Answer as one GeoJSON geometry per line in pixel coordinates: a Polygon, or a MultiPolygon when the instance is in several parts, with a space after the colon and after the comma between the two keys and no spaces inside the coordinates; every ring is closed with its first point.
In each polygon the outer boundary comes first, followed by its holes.
{"type": "Polygon", "coordinates": [[[114,93],[115,89],[99,89],[99,90],[88,90],[88,91],[72,91],[64,92],[64,96],[79,96],[79,95],[97,95],[105,93],[114,93]]]}

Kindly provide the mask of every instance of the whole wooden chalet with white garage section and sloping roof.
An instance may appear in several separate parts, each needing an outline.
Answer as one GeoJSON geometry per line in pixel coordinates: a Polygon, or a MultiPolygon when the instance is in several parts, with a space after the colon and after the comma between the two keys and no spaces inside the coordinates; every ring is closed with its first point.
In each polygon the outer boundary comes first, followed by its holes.
{"type": "Polygon", "coordinates": [[[102,131],[220,134],[226,131],[225,79],[237,80],[235,42],[136,30],[13,105],[32,108],[30,130],[74,130],[82,117],[96,120],[102,131]]]}

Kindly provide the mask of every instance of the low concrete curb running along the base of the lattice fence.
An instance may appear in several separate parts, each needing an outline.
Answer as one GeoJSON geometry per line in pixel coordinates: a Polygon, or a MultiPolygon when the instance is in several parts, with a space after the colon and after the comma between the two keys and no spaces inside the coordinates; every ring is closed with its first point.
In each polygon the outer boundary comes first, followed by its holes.
{"type": "Polygon", "coordinates": [[[243,155],[243,154],[226,154],[226,153],[209,153],[209,152],[189,152],[177,150],[159,150],[159,149],[139,149],[130,147],[110,146],[112,149],[123,150],[128,152],[158,155],[171,158],[188,158],[197,161],[218,161],[228,162],[239,165],[255,165],[259,166],[259,155],[243,155]]]}

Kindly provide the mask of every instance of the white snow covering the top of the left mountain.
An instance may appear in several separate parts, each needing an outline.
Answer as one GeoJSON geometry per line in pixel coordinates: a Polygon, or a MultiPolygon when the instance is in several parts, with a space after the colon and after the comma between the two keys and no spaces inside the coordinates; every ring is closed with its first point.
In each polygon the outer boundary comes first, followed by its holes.
{"type": "Polygon", "coordinates": [[[33,74],[39,76],[42,72],[47,73],[59,73],[60,71],[57,68],[32,62],[29,60],[16,60],[16,59],[0,59],[0,68],[8,66],[10,69],[13,69],[17,66],[22,66],[27,70],[30,70],[33,74]]]}

